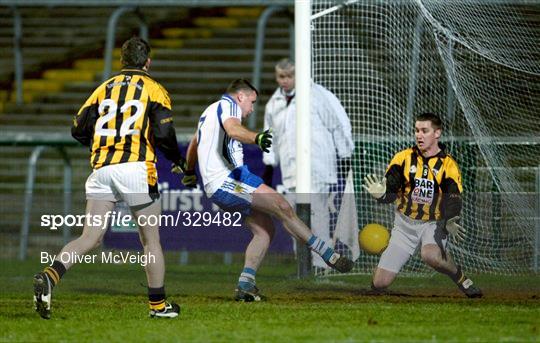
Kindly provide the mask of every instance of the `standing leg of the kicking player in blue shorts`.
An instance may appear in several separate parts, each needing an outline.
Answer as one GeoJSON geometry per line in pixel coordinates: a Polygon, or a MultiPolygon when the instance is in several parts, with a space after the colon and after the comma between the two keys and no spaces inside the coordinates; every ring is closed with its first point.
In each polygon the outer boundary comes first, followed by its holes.
{"type": "Polygon", "coordinates": [[[246,219],[246,224],[251,230],[253,237],[246,248],[244,269],[238,278],[235,300],[246,302],[260,301],[264,299],[264,296],[259,294],[255,275],[272,242],[275,229],[272,218],[257,210],[251,212],[251,215],[246,219]]]}

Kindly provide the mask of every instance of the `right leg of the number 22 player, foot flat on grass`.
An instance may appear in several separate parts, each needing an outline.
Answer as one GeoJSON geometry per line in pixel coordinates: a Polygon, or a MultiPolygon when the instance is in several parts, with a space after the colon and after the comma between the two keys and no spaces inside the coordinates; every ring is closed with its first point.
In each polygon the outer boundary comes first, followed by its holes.
{"type": "Polygon", "coordinates": [[[161,201],[155,200],[150,204],[131,207],[131,211],[137,218],[137,223],[146,223],[145,226],[139,226],[139,237],[148,261],[144,270],[148,282],[150,317],[177,317],[180,313],[180,306],[175,303],[168,303],[165,296],[165,259],[159,241],[159,221],[155,221],[155,225],[148,224],[148,219],[157,218],[161,214],[161,201]],[[139,220],[139,218],[142,220],[139,220]]]}

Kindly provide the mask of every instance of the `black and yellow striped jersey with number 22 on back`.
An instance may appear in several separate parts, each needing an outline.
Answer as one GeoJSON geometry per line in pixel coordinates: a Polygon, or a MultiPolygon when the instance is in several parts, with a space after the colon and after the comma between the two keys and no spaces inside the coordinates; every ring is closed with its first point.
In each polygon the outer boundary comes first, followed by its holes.
{"type": "Polygon", "coordinates": [[[91,151],[90,164],[156,162],[158,147],[174,163],[183,157],[167,91],[140,69],[124,69],[103,82],[73,120],[71,134],[91,151]]]}

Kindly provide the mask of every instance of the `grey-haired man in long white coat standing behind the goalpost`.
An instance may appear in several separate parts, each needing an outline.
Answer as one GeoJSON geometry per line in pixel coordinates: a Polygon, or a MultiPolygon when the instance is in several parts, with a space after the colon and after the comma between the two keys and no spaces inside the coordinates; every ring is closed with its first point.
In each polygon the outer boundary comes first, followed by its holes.
{"type": "MultiPolygon", "coordinates": [[[[264,127],[272,129],[274,142],[270,152],[263,154],[267,166],[281,168],[282,183],[287,192],[296,189],[296,100],[294,62],[280,60],[275,67],[276,89],[264,115],[264,127]]],[[[338,98],[321,85],[311,86],[311,223],[315,234],[330,239],[328,199],[330,187],[338,182],[338,159],[350,161],[354,144],[351,123],[338,98]]],[[[265,182],[269,183],[267,168],[265,182]]],[[[312,254],[315,267],[326,263],[312,254]]]]}

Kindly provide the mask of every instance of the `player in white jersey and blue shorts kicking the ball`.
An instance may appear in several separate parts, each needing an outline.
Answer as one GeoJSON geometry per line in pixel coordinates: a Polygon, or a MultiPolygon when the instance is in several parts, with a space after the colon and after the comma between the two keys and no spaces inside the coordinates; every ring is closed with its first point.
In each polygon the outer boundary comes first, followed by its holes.
{"type": "Polygon", "coordinates": [[[255,274],[274,237],[271,216],[279,219],[294,238],[305,242],[330,267],[345,273],[353,262],[334,252],[328,242],[313,235],[296,216],[287,200],[244,165],[242,143],[257,144],[268,151],[272,135],[256,133],[242,125],[242,119],[253,112],[258,91],[244,79],[234,80],[221,99],[204,111],[197,133],[187,152],[187,172],[184,184],[193,177],[198,159],[199,171],[208,197],[221,209],[242,213],[253,238],[245,252],[244,269],[238,279],[237,301],[260,301],[263,296],[255,283],[255,274]]]}

